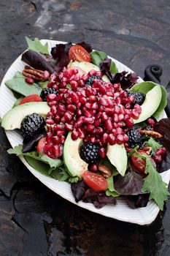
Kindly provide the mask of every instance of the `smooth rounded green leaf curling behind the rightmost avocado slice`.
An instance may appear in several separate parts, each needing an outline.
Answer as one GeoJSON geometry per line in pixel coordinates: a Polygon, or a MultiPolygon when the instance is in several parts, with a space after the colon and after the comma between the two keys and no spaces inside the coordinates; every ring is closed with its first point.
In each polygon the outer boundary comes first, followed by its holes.
{"type": "MultiPolygon", "coordinates": [[[[154,82],[142,82],[142,83],[136,83],[129,91],[137,91],[137,92],[142,92],[143,94],[147,94],[148,91],[150,91],[153,87],[155,86],[160,86],[158,83],[154,82]]],[[[152,115],[155,118],[160,116],[164,108],[166,108],[167,105],[167,93],[166,89],[161,86],[161,91],[162,91],[162,98],[159,107],[155,111],[155,113],[152,115]]]]}

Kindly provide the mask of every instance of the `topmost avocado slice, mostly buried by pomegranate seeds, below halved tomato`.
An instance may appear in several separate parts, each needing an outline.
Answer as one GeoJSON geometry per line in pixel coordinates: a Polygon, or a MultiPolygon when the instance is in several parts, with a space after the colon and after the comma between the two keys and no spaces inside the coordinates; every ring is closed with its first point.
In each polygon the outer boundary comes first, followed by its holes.
{"type": "MultiPolygon", "coordinates": [[[[71,69],[74,68],[74,67],[77,67],[77,69],[81,69],[86,74],[88,74],[88,72],[90,72],[90,70],[92,70],[92,69],[95,69],[96,71],[100,71],[99,67],[97,67],[93,63],[86,62],[86,61],[70,62],[68,67],[71,68],[71,69]]],[[[109,78],[107,78],[107,75],[103,75],[102,80],[104,80],[105,82],[109,82],[109,78]]]]}

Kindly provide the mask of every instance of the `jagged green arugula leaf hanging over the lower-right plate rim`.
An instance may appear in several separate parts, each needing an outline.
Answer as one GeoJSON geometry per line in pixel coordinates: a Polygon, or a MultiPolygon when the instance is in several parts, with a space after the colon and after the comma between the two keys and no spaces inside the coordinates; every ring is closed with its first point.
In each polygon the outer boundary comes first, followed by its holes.
{"type": "Polygon", "coordinates": [[[162,180],[161,175],[155,170],[149,156],[138,153],[136,155],[146,161],[145,173],[148,173],[147,177],[144,178],[142,192],[149,192],[149,200],[155,200],[155,203],[163,211],[164,201],[168,200],[168,196],[170,195],[168,184],[162,180]]]}

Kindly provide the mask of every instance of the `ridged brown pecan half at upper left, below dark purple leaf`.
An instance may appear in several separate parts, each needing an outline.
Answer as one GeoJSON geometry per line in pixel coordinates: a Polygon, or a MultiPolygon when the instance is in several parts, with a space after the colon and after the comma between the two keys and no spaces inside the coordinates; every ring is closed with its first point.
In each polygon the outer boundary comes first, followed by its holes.
{"type": "Polygon", "coordinates": [[[42,71],[39,69],[34,69],[29,66],[25,66],[25,69],[23,69],[22,74],[26,78],[32,78],[38,81],[47,80],[50,77],[50,73],[47,70],[42,71]]]}

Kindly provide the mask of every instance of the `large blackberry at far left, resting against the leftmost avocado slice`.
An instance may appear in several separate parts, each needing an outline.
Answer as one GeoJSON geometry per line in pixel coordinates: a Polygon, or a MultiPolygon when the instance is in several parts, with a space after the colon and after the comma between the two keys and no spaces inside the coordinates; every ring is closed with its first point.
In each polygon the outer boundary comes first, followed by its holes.
{"type": "Polygon", "coordinates": [[[20,132],[24,139],[28,139],[37,135],[45,127],[45,118],[37,113],[26,116],[21,125],[20,132]]]}

